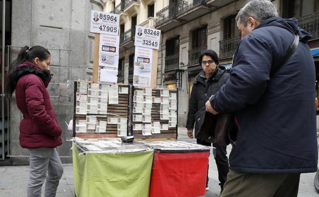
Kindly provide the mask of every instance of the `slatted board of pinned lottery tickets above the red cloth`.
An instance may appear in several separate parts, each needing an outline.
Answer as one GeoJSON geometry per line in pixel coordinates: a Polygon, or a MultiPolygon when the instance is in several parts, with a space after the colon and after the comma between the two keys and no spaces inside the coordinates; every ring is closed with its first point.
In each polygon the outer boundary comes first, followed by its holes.
{"type": "Polygon", "coordinates": [[[134,138],[177,138],[178,95],[176,90],[132,89],[134,138]]]}

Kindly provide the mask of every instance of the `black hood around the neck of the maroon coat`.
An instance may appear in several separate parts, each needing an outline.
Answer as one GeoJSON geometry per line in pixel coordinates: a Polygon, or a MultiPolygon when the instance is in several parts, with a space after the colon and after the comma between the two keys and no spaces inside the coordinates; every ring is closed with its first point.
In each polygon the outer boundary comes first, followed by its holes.
{"type": "Polygon", "coordinates": [[[48,87],[51,78],[53,76],[53,74],[50,74],[50,70],[43,70],[40,69],[37,65],[29,62],[29,61],[25,61],[23,63],[21,63],[15,70],[14,74],[13,74],[13,78],[15,80],[15,82],[18,82],[19,78],[24,76],[24,75],[28,75],[28,74],[35,74],[38,77],[40,77],[45,85],[45,87],[48,87]]]}

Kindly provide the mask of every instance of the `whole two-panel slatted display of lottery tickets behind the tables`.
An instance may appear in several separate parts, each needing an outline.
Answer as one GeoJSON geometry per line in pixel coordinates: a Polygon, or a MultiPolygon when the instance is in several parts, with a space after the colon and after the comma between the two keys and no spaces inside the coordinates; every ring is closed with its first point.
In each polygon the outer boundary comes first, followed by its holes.
{"type": "Polygon", "coordinates": [[[75,81],[73,136],[176,139],[176,90],[75,81]]]}

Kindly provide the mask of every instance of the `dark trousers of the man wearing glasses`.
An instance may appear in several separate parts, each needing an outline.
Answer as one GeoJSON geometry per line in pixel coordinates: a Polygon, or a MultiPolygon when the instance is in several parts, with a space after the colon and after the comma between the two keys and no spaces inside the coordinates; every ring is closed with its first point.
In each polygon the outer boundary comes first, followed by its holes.
{"type": "MultiPolygon", "coordinates": [[[[205,145],[205,146],[211,146],[212,144],[210,142],[197,139],[197,144],[205,145]]],[[[219,185],[221,188],[223,188],[224,183],[227,180],[227,173],[229,172],[229,163],[228,163],[228,158],[227,158],[227,152],[226,152],[226,146],[222,146],[216,143],[213,143],[213,147],[216,148],[216,157],[215,157],[215,162],[217,165],[217,170],[218,170],[218,180],[219,180],[219,185]]],[[[207,167],[207,180],[206,180],[206,185],[208,185],[208,168],[207,167]]]]}

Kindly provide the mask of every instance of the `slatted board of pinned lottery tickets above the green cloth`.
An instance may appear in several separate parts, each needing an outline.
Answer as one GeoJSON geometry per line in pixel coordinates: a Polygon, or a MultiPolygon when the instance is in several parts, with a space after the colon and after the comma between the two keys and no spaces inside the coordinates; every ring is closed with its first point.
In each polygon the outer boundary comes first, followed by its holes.
{"type": "Polygon", "coordinates": [[[74,137],[127,136],[129,85],[75,81],[74,92],[74,137]]]}

